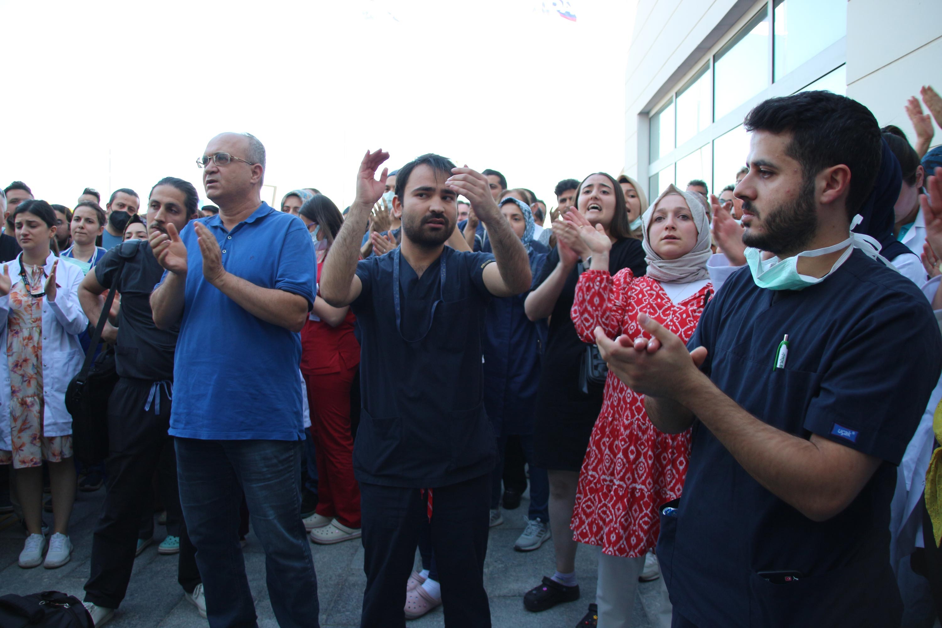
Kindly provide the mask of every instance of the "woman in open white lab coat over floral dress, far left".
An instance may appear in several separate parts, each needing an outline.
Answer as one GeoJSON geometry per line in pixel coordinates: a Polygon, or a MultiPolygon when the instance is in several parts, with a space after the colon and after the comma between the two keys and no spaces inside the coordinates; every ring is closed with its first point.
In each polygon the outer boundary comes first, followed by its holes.
{"type": "Polygon", "coordinates": [[[57,219],[46,201],[25,201],[12,218],[23,252],[0,275],[0,464],[12,476],[29,537],[20,567],[39,566],[42,534],[42,462],[49,466],[55,529],[44,566],[69,562],[69,517],[75,499],[72,416],[65,391],[82,366],[77,335],[89,319],[78,303],[78,266],[58,264],[50,252],[57,219]]]}

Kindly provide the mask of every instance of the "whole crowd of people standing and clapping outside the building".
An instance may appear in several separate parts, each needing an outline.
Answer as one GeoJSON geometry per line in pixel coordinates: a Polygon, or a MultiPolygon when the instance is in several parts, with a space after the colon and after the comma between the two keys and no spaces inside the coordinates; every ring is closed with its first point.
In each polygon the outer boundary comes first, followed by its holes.
{"type": "Polygon", "coordinates": [[[69,562],[76,488],[104,485],[95,626],[159,503],[158,549],[211,626],[255,625],[251,526],[281,626],[318,625],[310,543],[359,539],[361,625],[442,606],[479,628],[489,530],[528,489],[513,550],[551,541],[555,562],[534,563],[529,612],[581,599],[581,543],[599,559],[579,626],[630,626],[652,581],[665,628],[931,625],[942,99],[922,96],[915,147],[843,96],[767,100],[735,183],[650,204],[624,171],[560,181],[547,211],[497,170],[390,171],[380,150],[343,211],[313,187],[275,208],[263,144],[235,133],[197,159],[213,205],[175,177],[105,208],[8,185],[0,510],[20,567],[69,562]],[[107,455],[77,460],[66,390],[96,354],[117,374],[107,455]]]}

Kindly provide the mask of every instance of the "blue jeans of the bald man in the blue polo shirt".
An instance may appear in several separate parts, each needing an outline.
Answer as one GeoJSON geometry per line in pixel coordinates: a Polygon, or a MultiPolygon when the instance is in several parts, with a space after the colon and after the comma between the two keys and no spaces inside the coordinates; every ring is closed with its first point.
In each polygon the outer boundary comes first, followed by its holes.
{"type": "Polygon", "coordinates": [[[268,597],[282,628],[317,628],[317,576],[300,519],[300,441],[176,439],[180,503],[212,628],[256,626],[238,542],[241,494],[265,549],[268,597]]]}

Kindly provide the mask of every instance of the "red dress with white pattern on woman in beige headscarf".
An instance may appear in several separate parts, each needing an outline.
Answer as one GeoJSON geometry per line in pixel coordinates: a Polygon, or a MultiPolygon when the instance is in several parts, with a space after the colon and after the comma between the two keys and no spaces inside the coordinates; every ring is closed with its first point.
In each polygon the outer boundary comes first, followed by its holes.
{"type": "MultiPolygon", "coordinates": [[[[637,322],[650,315],[685,342],[693,335],[712,293],[710,283],[674,304],[660,283],[620,270],[587,270],[579,277],[572,317],[584,342],[601,327],[609,338],[622,333],[650,338],[637,322]]],[[[643,556],[658,543],[658,507],[680,496],[690,459],[690,430],[658,431],[644,411],[644,398],[609,372],[602,411],[579,472],[574,538],[599,545],[609,556],[643,556]]]]}

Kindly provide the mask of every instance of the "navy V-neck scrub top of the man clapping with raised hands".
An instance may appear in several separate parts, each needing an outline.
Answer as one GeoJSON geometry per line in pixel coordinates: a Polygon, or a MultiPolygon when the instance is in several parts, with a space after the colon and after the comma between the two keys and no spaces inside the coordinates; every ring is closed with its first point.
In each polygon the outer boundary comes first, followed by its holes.
{"type": "Polygon", "coordinates": [[[481,327],[491,299],[483,270],[494,256],[446,247],[418,277],[397,251],[356,269],[363,283],[350,304],[362,333],[356,478],[436,488],[488,474],[496,446],[483,404],[481,327]]]}

